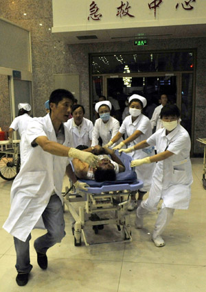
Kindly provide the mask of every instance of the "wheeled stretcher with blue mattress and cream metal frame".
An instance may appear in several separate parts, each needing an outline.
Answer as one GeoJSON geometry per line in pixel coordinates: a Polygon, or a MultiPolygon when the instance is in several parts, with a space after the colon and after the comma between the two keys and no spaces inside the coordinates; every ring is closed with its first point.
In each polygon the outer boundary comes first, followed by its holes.
{"type": "MultiPolygon", "coordinates": [[[[115,151],[115,154],[119,156],[118,151],[115,151]]],[[[95,234],[98,234],[108,224],[115,224],[117,230],[122,232],[121,241],[132,241],[130,215],[126,210],[130,195],[137,193],[137,190],[143,187],[143,182],[137,180],[134,169],[130,167],[132,158],[125,153],[122,153],[119,158],[124,163],[126,170],[123,173],[117,173],[115,182],[81,180],[89,184],[87,192],[72,193],[66,189],[64,202],[74,219],[71,226],[74,245],[82,245],[82,239],[85,245],[95,244],[88,243],[84,228],[89,226],[93,228],[95,234]],[[73,206],[73,203],[76,202],[84,202],[83,206],[79,206],[78,211],[73,206]],[[106,216],[108,212],[112,217],[106,216]],[[85,215],[89,215],[88,219],[85,215]]],[[[106,242],[113,242],[113,240],[106,242]]]]}

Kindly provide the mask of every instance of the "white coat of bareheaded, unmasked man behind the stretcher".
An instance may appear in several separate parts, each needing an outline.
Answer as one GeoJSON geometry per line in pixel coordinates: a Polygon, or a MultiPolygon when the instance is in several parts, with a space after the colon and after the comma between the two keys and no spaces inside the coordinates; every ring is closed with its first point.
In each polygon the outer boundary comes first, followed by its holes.
{"type": "Polygon", "coordinates": [[[69,119],[65,126],[68,128],[69,132],[72,134],[71,147],[78,147],[78,145],[87,145],[90,147],[93,132],[93,123],[89,119],[83,118],[81,130],[78,131],[78,127],[72,119],[69,119]]]}

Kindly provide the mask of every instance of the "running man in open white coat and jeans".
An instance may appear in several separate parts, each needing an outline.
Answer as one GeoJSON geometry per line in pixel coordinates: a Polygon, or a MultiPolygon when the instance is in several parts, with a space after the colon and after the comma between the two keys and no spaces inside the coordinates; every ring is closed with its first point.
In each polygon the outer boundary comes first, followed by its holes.
{"type": "Polygon", "coordinates": [[[69,158],[79,158],[93,167],[99,162],[89,152],[67,147],[70,136],[63,123],[69,118],[73,99],[68,90],[54,90],[49,98],[50,114],[32,119],[27,127],[27,160],[12,184],[10,215],[3,225],[14,236],[19,286],[27,284],[32,270],[30,239],[34,226],[47,229],[34,241],[41,269],[47,269],[49,247],[65,236],[61,194],[65,171],[77,188],[87,189],[87,184],[76,180],[69,158]]]}

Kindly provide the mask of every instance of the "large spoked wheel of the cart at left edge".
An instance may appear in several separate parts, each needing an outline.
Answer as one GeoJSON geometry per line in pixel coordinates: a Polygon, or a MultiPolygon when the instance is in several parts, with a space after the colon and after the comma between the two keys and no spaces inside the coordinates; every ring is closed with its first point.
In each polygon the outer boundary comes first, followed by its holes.
{"type": "Polygon", "coordinates": [[[20,156],[3,154],[0,158],[0,176],[3,180],[14,180],[20,169],[20,156]]]}

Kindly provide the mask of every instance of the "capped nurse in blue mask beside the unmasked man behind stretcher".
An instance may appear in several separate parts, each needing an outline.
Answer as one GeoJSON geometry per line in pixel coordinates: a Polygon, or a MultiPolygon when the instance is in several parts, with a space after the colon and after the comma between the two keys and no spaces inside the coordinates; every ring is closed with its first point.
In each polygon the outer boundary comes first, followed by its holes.
{"type": "Polygon", "coordinates": [[[100,118],[95,121],[92,134],[91,146],[99,144],[98,138],[102,138],[102,146],[106,145],[119,130],[119,121],[111,117],[111,102],[99,101],[95,104],[95,112],[98,112],[100,118]]]}

